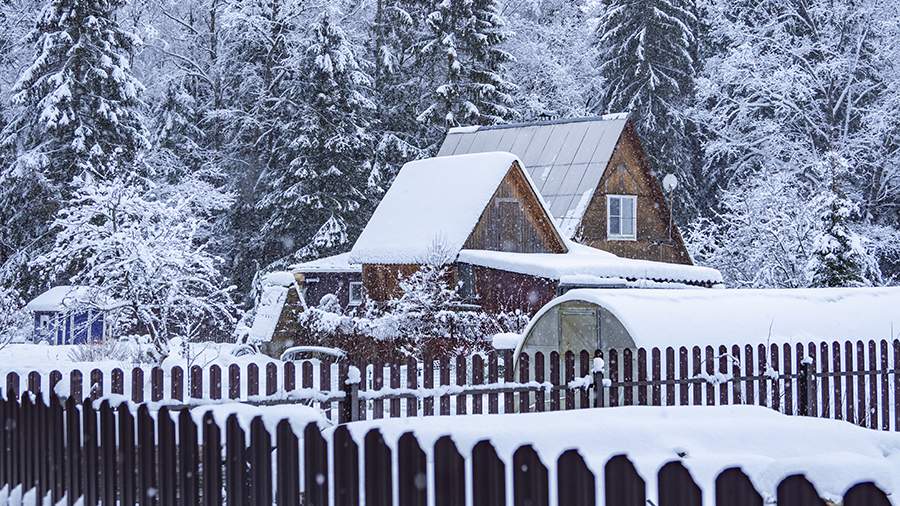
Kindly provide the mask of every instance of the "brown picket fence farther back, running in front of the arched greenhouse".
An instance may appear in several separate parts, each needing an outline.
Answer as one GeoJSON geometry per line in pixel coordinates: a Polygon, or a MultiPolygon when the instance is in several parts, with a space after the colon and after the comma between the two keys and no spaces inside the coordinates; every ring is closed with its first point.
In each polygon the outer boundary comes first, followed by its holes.
{"type": "Polygon", "coordinates": [[[304,361],[168,370],[73,370],[6,375],[9,395],[124,395],[189,405],[317,403],[333,418],[555,411],[628,405],[770,407],[786,414],[900,430],[900,340],[639,348],[350,366],[304,361]],[[599,366],[599,367],[598,367],[599,366]],[[361,369],[360,381],[347,381],[361,369]],[[602,385],[602,388],[596,388],[602,385]]]}

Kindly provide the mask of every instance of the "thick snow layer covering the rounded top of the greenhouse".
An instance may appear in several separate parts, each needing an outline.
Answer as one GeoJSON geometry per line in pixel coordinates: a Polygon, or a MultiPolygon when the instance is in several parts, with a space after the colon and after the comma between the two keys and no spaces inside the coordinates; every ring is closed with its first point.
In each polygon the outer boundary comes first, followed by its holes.
{"type": "Polygon", "coordinates": [[[578,289],[532,322],[571,300],[608,309],[639,347],[900,337],[900,288],[578,289]]]}

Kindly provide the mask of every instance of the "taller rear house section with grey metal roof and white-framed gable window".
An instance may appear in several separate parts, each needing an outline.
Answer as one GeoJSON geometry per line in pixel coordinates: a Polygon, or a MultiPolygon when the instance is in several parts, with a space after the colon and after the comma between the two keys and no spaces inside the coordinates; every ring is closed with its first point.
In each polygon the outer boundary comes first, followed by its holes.
{"type": "Polygon", "coordinates": [[[438,156],[490,151],[518,156],[565,239],[620,257],[691,263],[627,114],[454,128],[438,156]]]}

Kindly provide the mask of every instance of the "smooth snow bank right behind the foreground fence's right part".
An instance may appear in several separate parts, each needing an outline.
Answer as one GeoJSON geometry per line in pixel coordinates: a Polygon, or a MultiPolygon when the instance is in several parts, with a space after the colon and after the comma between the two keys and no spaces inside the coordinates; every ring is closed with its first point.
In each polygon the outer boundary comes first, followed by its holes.
{"type": "Polygon", "coordinates": [[[489,440],[507,469],[516,449],[530,444],[550,476],[557,475],[559,456],[575,449],[601,483],[609,459],[626,455],[646,483],[648,504],[660,504],[658,471],[671,461],[688,469],[705,505],[715,503],[716,477],[730,467],[747,474],[765,504],[774,504],[778,483],[793,474],[805,475],[823,498],[836,503],[859,482],[874,482],[889,497],[900,493],[900,435],[758,406],[628,406],[397,418],[346,427],[360,445],[377,428],[395,455],[407,432],[429,455],[446,435],[464,456],[489,440]]]}

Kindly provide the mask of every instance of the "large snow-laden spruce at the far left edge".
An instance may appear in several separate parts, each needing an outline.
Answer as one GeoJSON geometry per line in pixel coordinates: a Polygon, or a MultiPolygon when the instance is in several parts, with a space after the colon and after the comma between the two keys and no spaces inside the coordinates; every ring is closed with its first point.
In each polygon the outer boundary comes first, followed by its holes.
{"type": "Polygon", "coordinates": [[[12,89],[16,112],[0,133],[14,151],[0,167],[6,282],[36,283],[31,251],[81,176],[116,177],[148,147],[129,57],[139,43],[115,21],[122,0],[52,0],[29,40],[34,59],[12,89]]]}

